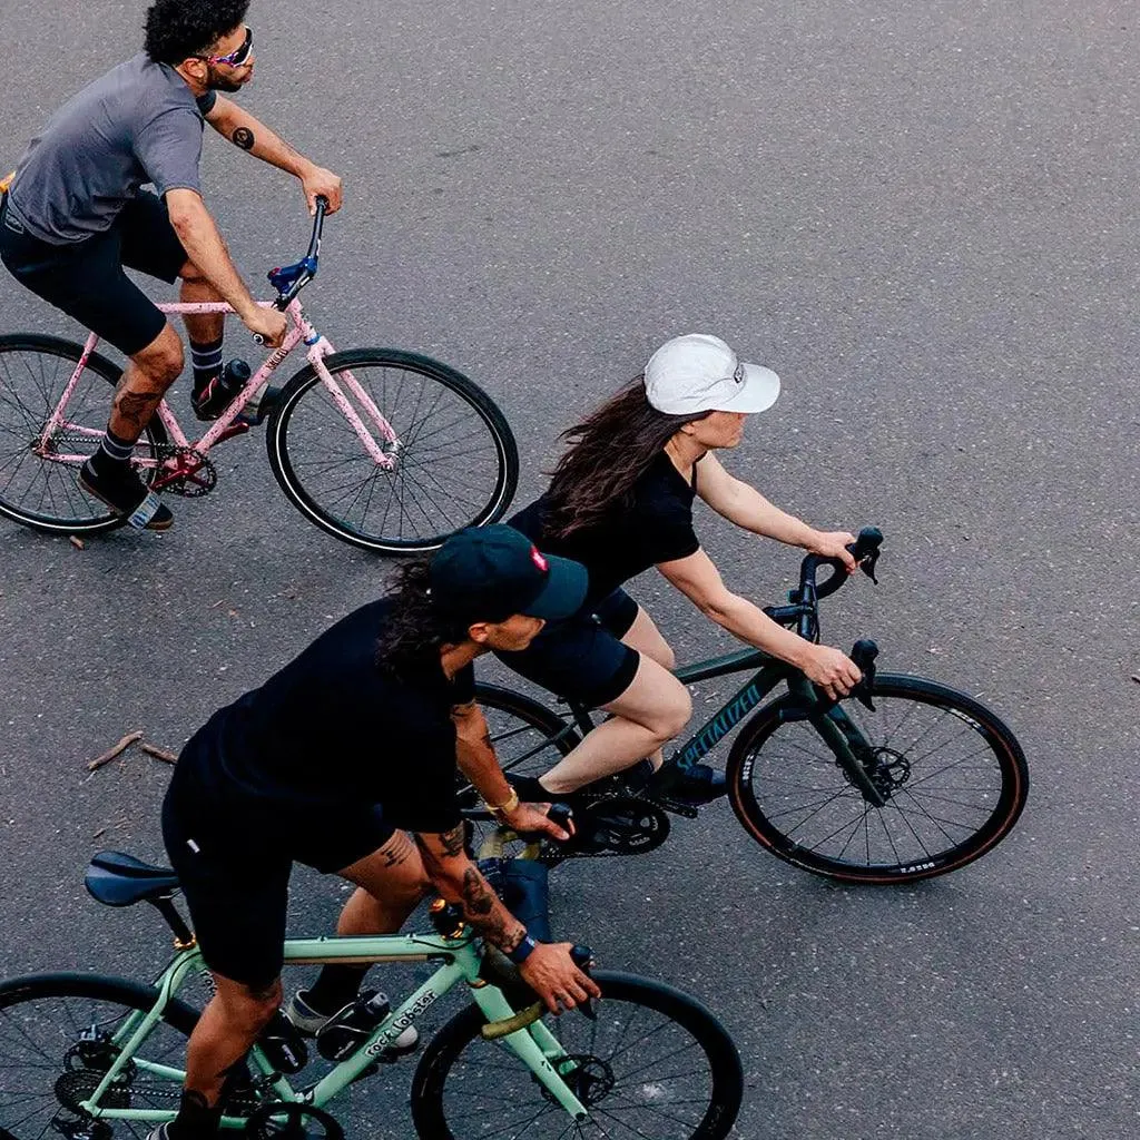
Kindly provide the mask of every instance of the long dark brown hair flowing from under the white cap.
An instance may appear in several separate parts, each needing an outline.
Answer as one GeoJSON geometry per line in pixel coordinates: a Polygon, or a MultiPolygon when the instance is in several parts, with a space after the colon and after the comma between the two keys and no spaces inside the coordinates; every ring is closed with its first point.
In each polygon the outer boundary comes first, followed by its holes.
{"type": "Polygon", "coordinates": [[[567,538],[576,530],[628,511],[633,506],[634,483],[658,453],[682,424],[707,415],[708,412],[684,416],[658,412],[645,398],[645,377],[638,376],[581,423],[568,427],[561,439],[570,446],[543,496],[546,537],[567,538]]]}

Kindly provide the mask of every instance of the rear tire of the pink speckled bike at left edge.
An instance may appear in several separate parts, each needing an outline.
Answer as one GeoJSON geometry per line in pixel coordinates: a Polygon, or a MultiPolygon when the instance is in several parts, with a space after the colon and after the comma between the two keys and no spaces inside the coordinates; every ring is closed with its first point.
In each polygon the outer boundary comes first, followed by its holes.
{"type": "MultiPolygon", "coordinates": [[[[113,514],[98,499],[80,490],[75,481],[78,465],[48,463],[35,457],[30,449],[31,442],[38,437],[58,404],[66,381],[74,372],[82,355],[83,347],[81,344],[62,340],[58,336],[41,336],[35,333],[0,336],[0,514],[43,534],[96,535],[115,530],[127,523],[124,515],[113,514]],[[25,369],[19,369],[18,380],[13,375],[13,369],[6,361],[15,357],[17,352],[40,359],[38,377],[26,360],[26,377],[25,369]],[[46,372],[48,360],[67,364],[63,373],[55,373],[54,369],[55,374],[50,382],[46,372]],[[19,382],[23,382],[21,390],[17,389],[19,382]],[[22,423],[9,426],[8,421],[13,415],[22,420],[22,423]],[[25,469],[28,457],[32,457],[33,466],[25,469]],[[21,481],[17,484],[16,480],[22,473],[23,479],[31,478],[32,481],[26,484],[21,481]],[[19,487],[23,487],[22,491],[18,490],[19,487]],[[36,490],[36,488],[39,489],[36,490]],[[62,510],[72,513],[44,510],[44,498],[52,496],[54,491],[58,491],[66,500],[62,510]],[[36,503],[27,502],[36,495],[39,496],[36,503]]],[[[106,402],[103,400],[91,401],[90,404],[87,401],[88,389],[84,389],[84,377],[88,374],[98,376],[114,388],[119,383],[122,369],[98,352],[92,352],[88,357],[83,376],[80,377],[79,385],[68,401],[68,410],[74,412],[81,421],[85,421],[88,416],[98,417],[91,423],[83,423],[84,433],[67,441],[68,446],[82,454],[90,454],[98,447],[99,437],[88,434],[88,432],[101,433],[111,410],[109,400],[106,402]]],[[[66,434],[66,429],[64,434],[66,434]]],[[[140,450],[148,457],[155,457],[160,448],[168,442],[166,430],[162,421],[157,416],[153,416],[142,429],[139,442],[140,450]]],[[[147,484],[154,480],[156,473],[155,467],[139,469],[139,475],[147,484]]]]}

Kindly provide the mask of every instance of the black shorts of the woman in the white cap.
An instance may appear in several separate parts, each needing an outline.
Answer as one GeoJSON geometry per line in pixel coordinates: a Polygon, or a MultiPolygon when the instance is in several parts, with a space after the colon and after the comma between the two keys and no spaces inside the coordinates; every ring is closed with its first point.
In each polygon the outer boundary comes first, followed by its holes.
{"type": "Polygon", "coordinates": [[[609,705],[633,683],[641,654],[622,644],[637,603],[616,589],[565,621],[547,626],[526,649],[498,659],[555,697],[591,708],[609,705]]]}

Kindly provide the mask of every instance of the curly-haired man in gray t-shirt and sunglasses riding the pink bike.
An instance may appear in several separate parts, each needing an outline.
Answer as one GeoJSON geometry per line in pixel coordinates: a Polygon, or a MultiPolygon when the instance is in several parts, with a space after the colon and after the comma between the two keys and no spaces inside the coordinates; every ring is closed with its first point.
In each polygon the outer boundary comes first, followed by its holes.
{"type": "MultiPolygon", "coordinates": [[[[165,315],[123,272],[181,278],[185,302],[227,301],[253,333],[280,344],[286,318],[259,307],[202,201],[203,123],[300,179],[310,211],[333,213],[341,180],[219,92],[253,78],[250,0],[155,0],[145,50],[85,87],[55,115],[0,189],[0,261],[34,293],[114,344],[130,363],[99,449],[80,486],[132,526],[164,530],[170,511],[130,465],[135,445],[182,370],[165,315]],[[154,192],[142,189],[150,184],[154,192]]],[[[187,315],[194,409],[214,420],[227,399],[221,314],[187,315]]]]}

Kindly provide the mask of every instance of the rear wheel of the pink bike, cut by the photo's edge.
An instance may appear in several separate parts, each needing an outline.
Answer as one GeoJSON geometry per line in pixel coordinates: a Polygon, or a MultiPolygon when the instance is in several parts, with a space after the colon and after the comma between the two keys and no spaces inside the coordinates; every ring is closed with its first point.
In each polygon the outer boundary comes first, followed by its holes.
{"type": "MultiPolygon", "coordinates": [[[[92,352],[67,400],[59,425],[44,429],[83,349],[56,336],[0,336],[0,514],[55,535],[92,535],[127,520],[80,490],[79,467],[96,451],[111,410],[109,384],[121,370],[92,352]]],[[[155,459],[166,431],[154,417],[136,447],[140,459],[155,459]]],[[[156,467],[140,467],[149,486],[156,467]]]]}

